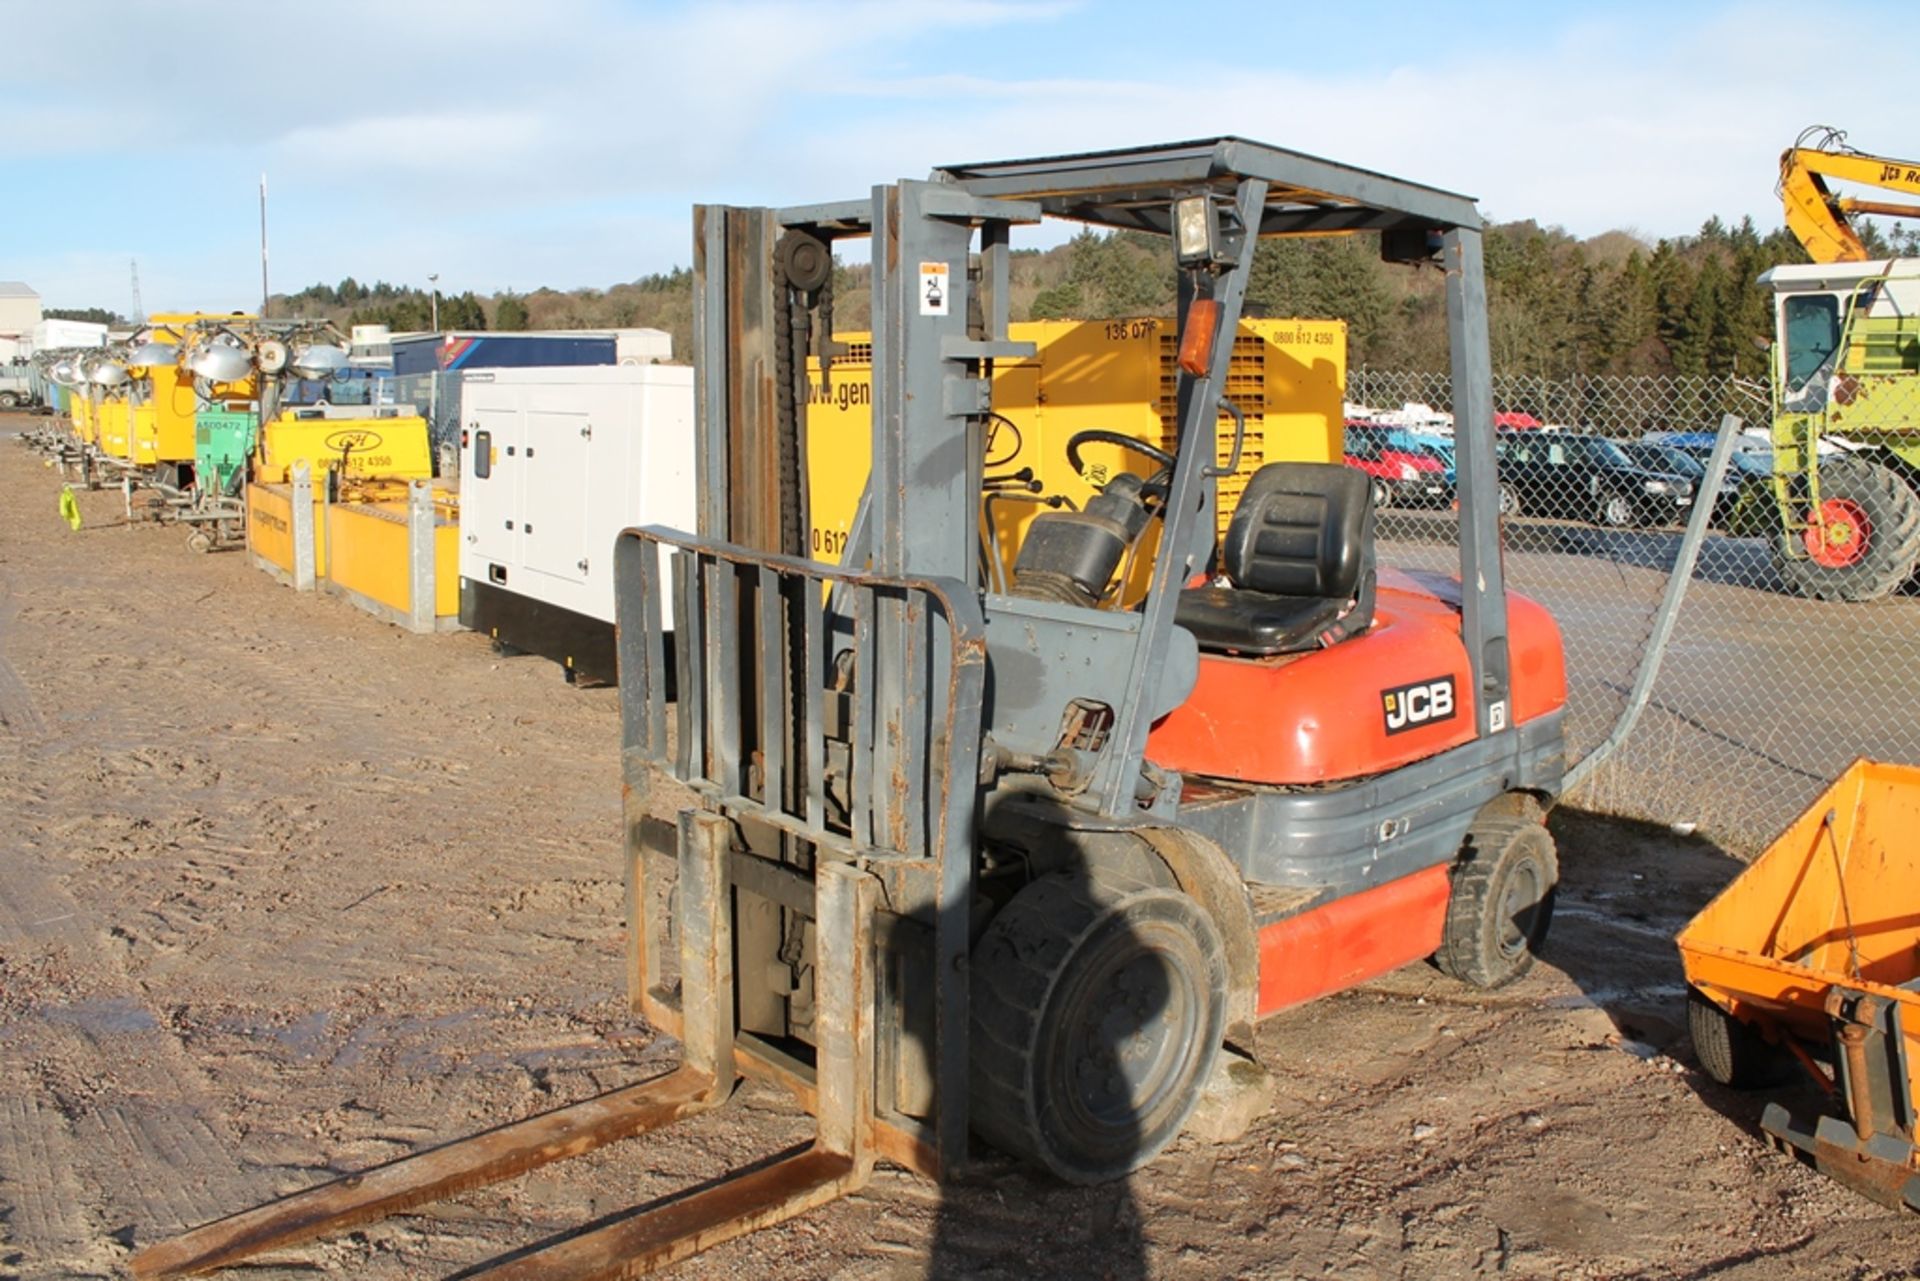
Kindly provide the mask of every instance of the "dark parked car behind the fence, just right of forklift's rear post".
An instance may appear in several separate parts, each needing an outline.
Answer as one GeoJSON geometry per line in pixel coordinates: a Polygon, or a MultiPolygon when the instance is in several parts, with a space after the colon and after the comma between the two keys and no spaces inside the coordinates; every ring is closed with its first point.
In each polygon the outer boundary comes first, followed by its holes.
{"type": "Polygon", "coordinates": [[[1693,480],[1644,467],[1605,436],[1498,432],[1500,513],[1565,517],[1615,528],[1672,524],[1693,505],[1693,480]]]}

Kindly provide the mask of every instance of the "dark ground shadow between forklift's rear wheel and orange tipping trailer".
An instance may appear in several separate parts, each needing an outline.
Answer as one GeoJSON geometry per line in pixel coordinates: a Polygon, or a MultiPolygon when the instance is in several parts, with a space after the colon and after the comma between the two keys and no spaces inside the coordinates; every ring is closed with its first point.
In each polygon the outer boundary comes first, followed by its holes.
{"type": "Polygon", "coordinates": [[[1561,887],[1542,960],[1580,987],[1578,997],[1548,999],[1549,1008],[1601,1010],[1615,1049],[1672,1058],[1703,1104],[1755,1139],[1764,1141],[1761,1112],[1770,1100],[1818,1112],[1805,1074],[1766,1091],[1720,1085],[1701,1070],[1688,1035],[1674,935],[1747,864],[1701,837],[1569,807],[1553,810],[1548,826],[1559,845],[1561,887]]]}

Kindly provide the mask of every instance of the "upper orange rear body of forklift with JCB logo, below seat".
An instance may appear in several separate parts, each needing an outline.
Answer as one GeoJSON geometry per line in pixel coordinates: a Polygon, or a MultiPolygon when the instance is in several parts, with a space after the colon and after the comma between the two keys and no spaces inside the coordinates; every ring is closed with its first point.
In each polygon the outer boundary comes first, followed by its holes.
{"type": "MultiPolygon", "coordinates": [[[[1475,699],[1459,640],[1457,584],[1382,572],[1375,620],[1331,649],[1240,659],[1202,653],[1187,701],[1146,739],[1154,764],[1248,784],[1323,784],[1380,774],[1473,739],[1475,699]],[[1452,586],[1450,593],[1446,588],[1452,586]],[[1452,678],[1452,714],[1388,732],[1394,689],[1452,678]]],[[[1507,595],[1515,724],[1567,703],[1559,626],[1507,595]]]]}

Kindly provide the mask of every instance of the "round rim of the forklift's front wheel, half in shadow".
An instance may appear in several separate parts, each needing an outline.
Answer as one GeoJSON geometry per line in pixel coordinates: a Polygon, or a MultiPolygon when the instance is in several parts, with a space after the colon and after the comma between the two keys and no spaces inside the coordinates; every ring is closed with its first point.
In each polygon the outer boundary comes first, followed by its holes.
{"type": "Polygon", "coordinates": [[[1116,935],[1060,993],[1073,1014],[1060,1022],[1046,1070],[1066,1127],[1089,1147],[1119,1154],[1185,1089],[1206,995],[1188,964],[1190,949],[1165,924],[1135,922],[1116,935]]]}

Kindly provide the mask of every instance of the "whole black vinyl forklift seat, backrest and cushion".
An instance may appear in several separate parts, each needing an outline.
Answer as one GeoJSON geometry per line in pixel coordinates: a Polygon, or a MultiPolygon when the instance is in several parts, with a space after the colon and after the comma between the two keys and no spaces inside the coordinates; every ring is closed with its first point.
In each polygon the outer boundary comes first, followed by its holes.
{"type": "Polygon", "coordinates": [[[1340,463],[1267,463],[1219,549],[1231,586],[1181,592],[1173,620],[1200,649],[1304,653],[1373,622],[1373,495],[1340,463]]]}

